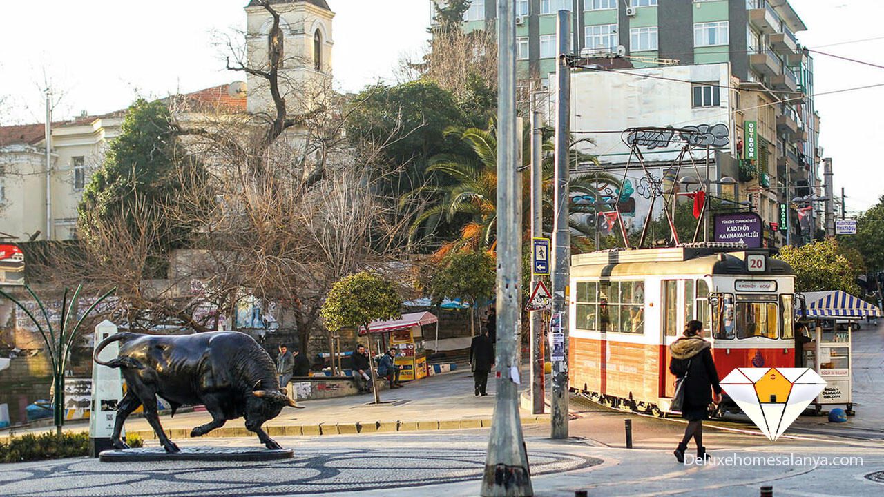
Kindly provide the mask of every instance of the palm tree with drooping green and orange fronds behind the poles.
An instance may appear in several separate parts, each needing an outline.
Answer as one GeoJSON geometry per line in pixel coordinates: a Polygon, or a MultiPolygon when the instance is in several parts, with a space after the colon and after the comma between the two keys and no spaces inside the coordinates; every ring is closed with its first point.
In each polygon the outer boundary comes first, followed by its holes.
{"type": "MultiPolygon", "coordinates": [[[[415,219],[409,231],[409,240],[415,241],[419,234],[429,235],[444,224],[462,223],[460,237],[448,241],[436,251],[438,257],[445,256],[452,250],[484,249],[494,250],[495,228],[497,223],[497,134],[494,120],[490,120],[487,129],[476,127],[452,127],[446,130],[446,136],[459,136],[461,141],[472,151],[469,155],[441,154],[431,157],[428,172],[439,173],[446,177],[447,183],[415,189],[403,200],[414,195],[429,194],[437,198],[438,203],[425,210],[415,219]]],[[[588,141],[586,139],[582,141],[588,141]]],[[[530,166],[531,129],[526,126],[522,131],[522,169],[530,166]]],[[[572,142],[572,148],[576,142],[572,142]]],[[[552,212],[553,190],[553,152],[552,130],[544,130],[543,140],[543,188],[546,212],[552,212]]],[[[571,153],[576,164],[591,162],[598,164],[598,159],[583,152],[574,150],[571,153]]],[[[598,197],[599,190],[604,188],[619,189],[620,181],[605,172],[578,173],[571,175],[570,189],[573,193],[598,197]]],[[[530,173],[522,174],[522,219],[530,220],[530,173]]],[[[588,226],[572,219],[572,227],[581,232],[590,229],[588,226]]],[[[552,222],[545,223],[551,226],[552,222]]],[[[592,226],[594,229],[594,226],[592,226]]],[[[526,240],[529,238],[526,230],[526,240]]]]}

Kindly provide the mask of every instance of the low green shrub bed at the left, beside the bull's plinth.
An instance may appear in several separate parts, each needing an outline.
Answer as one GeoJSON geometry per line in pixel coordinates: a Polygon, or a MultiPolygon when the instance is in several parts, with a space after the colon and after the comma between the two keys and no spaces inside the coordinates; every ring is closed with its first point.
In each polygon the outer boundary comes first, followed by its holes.
{"type": "MultiPolygon", "coordinates": [[[[144,440],[134,434],[126,435],[126,443],[129,447],[144,446],[144,440]]],[[[11,437],[5,442],[0,441],[0,463],[23,463],[85,455],[89,455],[88,432],[63,433],[61,437],[55,433],[27,434],[11,437]]]]}

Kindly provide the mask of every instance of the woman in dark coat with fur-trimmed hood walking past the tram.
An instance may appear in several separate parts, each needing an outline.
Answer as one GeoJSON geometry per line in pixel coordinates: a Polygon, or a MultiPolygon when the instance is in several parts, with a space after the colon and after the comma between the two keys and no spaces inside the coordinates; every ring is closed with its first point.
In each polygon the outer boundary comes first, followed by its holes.
{"type": "Polygon", "coordinates": [[[683,336],[669,346],[672,355],[669,371],[683,378],[682,417],[688,420],[684,437],[673,452],[679,463],[684,463],[684,451],[690,439],[697,443],[697,459],[709,459],[703,447],[703,420],[709,414],[710,402],[717,404],[721,401],[721,386],[711,348],[712,344],[703,340],[703,323],[697,320],[688,321],[683,336]]]}

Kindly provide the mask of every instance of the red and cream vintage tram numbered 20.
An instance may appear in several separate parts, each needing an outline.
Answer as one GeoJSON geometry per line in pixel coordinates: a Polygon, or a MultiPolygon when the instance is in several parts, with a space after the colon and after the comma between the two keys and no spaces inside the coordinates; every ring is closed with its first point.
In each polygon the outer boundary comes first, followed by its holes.
{"type": "Polygon", "coordinates": [[[569,290],[570,387],[603,403],[666,413],[668,346],[690,319],[704,323],[720,378],[737,367],[794,367],[795,276],[767,250],[583,254],[572,259],[569,290]]]}

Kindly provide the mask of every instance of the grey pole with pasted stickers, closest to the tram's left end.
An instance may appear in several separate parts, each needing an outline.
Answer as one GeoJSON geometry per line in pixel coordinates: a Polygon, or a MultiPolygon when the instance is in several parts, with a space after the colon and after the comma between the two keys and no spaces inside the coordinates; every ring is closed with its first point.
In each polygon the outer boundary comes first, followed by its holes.
{"type": "Polygon", "coordinates": [[[550,436],[568,438],[568,279],[571,264],[571,233],[568,228],[568,147],[570,146],[571,68],[563,57],[570,53],[571,12],[559,11],[556,65],[555,194],[552,234],[552,318],[550,360],[552,361],[552,417],[550,436]]]}

